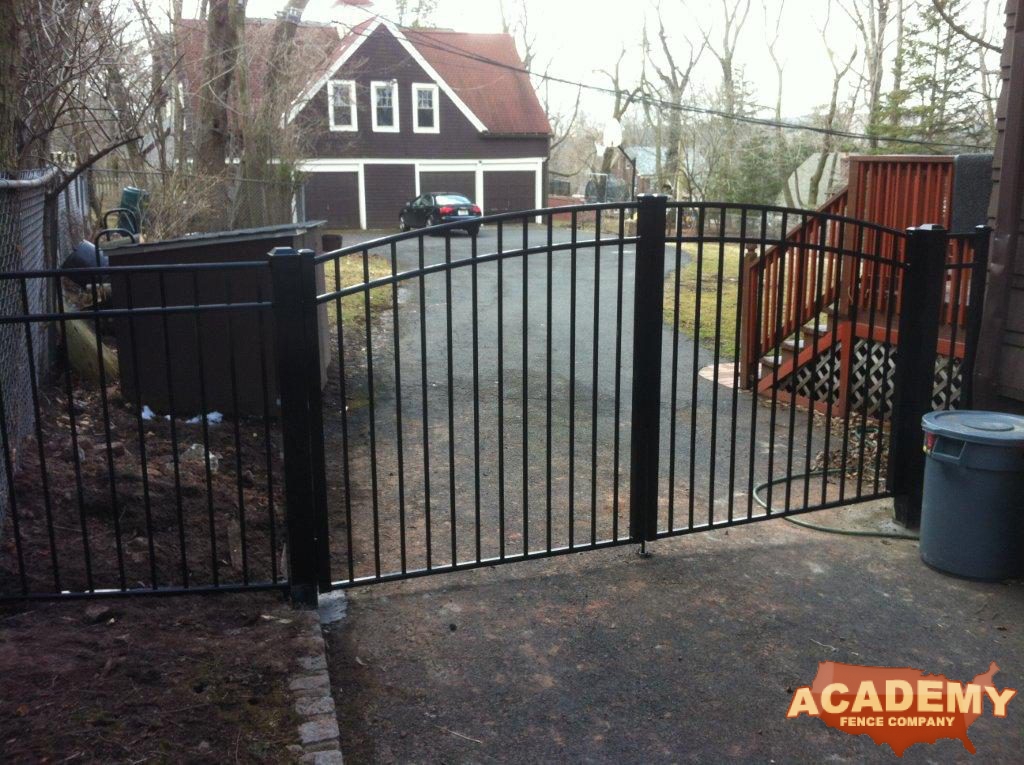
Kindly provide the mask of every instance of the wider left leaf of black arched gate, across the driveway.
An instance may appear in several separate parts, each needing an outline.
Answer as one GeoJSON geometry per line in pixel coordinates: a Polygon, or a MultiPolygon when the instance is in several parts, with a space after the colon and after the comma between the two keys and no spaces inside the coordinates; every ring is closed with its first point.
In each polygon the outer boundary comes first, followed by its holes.
{"type": "Polygon", "coordinates": [[[630,541],[635,210],[493,216],[479,236],[317,258],[335,586],[630,541]]]}

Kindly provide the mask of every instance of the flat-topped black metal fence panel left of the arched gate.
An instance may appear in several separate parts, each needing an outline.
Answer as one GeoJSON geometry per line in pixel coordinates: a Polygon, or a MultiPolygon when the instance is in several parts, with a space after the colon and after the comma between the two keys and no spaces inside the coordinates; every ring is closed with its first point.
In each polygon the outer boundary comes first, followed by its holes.
{"type": "MultiPolygon", "coordinates": [[[[11,391],[0,389],[9,503],[0,533],[0,596],[284,586],[276,405],[264,396],[261,414],[243,417],[216,412],[202,397],[210,381],[203,352],[209,324],[228,333],[231,352],[222,360],[232,391],[240,385],[238,348],[262,349],[260,336],[270,331],[271,302],[233,300],[231,280],[223,277],[266,267],[88,268],[78,272],[83,289],[53,269],[0,274],[5,289],[23,296],[16,309],[0,315],[0,326],[22,334],[33,381],[33,427],[24,438],[11,431],[11,391]],[[170,282],[182,280],[197,285],[199,295],[198,285],[214,277],[224,289],[217,302],[134,303],[154,282],[162,296],[170,282]],[[54,304],[33,306],[26,298],[33,289],[54,295],[54,304]],[[245,337],[236,329],[243,322],[245,337]],[[55,337],[52,357],[38,368],[37,328],[55,337]],[[163,356],[163,407],[142,399],[137,379],[123,385],[123,374],[138,374],[141,348],[163,356]],[[194,359],[187,383],[171,375],[184,357],[194,359]],[[176,406],[182,384],[198,386],[199,408],[176,406]]],[[[275,370],[265,353],[261,362],[265,391],[275,370]]]]}

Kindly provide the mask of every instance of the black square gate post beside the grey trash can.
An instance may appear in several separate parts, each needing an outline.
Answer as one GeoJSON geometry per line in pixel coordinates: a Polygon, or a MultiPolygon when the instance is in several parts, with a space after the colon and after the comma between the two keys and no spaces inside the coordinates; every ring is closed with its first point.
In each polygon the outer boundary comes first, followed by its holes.
{"type": "Polygon", "coordinates": [[[925,482],[921,418],[932,411],[947,246],[942,226],[907,229],[887,482],[896,521],[908,528],[921,522],[925,482]]]}

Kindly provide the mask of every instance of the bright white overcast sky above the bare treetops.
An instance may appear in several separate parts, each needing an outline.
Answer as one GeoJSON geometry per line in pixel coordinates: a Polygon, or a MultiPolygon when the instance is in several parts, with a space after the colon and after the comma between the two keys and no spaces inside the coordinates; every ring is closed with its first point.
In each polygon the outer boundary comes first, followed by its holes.
{"type": "MultiPolygon", "coordinates": [[[[191,2],[198,5],[197,0],[191,2]]],[[[674,47],[685,51],[690,42],[699,45],[702,29],[711,32],[712,40],[721,37],[719,22],[722,12],[715,0],[662,0],[660,3],[656,0],[634,0],[631,3],[611,0],[506,0],[506,6],[512,7],[519,2],[525,7],[531,34],[536,34],[535,71],[548,71],[551,75],[585,83],[608,85],[609,80],[601,74],[601,70],[612,68],[623,48],[628,51],[623,70],[625,79],[635,82],[639,78],[644,18],[646,16],[652,25],[658,5],[674,47]]],[[[732,0],[729,2],[731,4],[732,0]]],[[[1001,24],[1001,0],[966,2],[966,17],[973,20],[973,30],[980,31],[986,20],[989,29],[996,29],[1001,24]]],[[[284,0],[249,0],[248,14],[271,17],[284,4],[284,0]]],[[[766,109],[765,116],[774,109],[778,86],[767,47],[779,12],[782,24],[777,50],[784,61],[783,119],[797,120],[827,102],[831,93],[833,70],[821,33],[826,16],[827,37],[838,57],[849,58],[858,43],[858,35],[850,19],[837,3],[830,5],[829,15],[826,0],[752,0],[739,38],[738,58],[756,102],[766,109]]],[[[309,0],[303,18],[337,20],[339,12],[336,6],[337,0],[309,0]]],[[[396,16],[393,0],[377,0],[373,9],[385,17],[396,16]]],[[[439,0],[432,16],[433,26],[464,32],[500,32],[501,19],[499,0],[439,0]]],[[[857,60],[855,67],[860,66],[862,55],[858,54],[857,60]]],[[[992,66],[996,63],[992,61],[992,66]]],[[[711,90],[720,77],[718,62],[706,53],[694,72],[698,87],[711,90]]],[[[553,109],[565,110],[574,101],[575,89],[550,85],[548,96],[553,109]]],[[[610,111],[610,97],[587,94],[584,108],[595,121],[600,122],[610,111]]]]}

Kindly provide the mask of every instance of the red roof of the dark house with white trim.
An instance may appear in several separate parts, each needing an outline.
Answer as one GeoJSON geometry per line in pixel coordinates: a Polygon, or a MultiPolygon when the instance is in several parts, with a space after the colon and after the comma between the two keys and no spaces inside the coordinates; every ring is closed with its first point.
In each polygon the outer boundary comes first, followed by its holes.
{"type": "MultiPolygon", "coordinates": [[[[352,28],[344,38],[338,37],[333,26],[300,24],[295,43],[301,49],[301,66],[309,73],[306,84],[312,85],[323,78],[346,49],[364,40],[366,30],[372,23],[370,19],[352,28]]],[[[254,102],[262,96],[266,77],[265,56],[279,24],[278,19],[270,18],[246,19],[249,90],[254,102]]],[[[424,29],[403,29],[402,34],[469,111],[486,126],[488,133],[547,135],[551,132],[547,115],[529,76],[521,71],[522,60],[509,35],[424,29]]],[[[177,37],[183,54],[185,87],[195,109],[203,83],[206,22],[182,19],[177,37]]]]}

